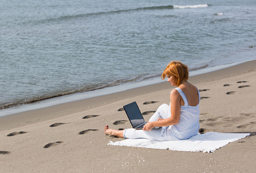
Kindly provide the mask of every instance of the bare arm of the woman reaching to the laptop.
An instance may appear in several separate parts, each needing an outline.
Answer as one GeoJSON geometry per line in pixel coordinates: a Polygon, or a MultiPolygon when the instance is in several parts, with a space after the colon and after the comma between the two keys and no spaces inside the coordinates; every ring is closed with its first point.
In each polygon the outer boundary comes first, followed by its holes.
{"type": "Polygon", "coordinates": [[[151,130],[153,127],[162,127],[176,125],[180,121],[180,100],[181,96],[176,89],[170,92],[170,118],[158,119],[158,121],[148,122],[144,125],[143,130],[151,130]]]}

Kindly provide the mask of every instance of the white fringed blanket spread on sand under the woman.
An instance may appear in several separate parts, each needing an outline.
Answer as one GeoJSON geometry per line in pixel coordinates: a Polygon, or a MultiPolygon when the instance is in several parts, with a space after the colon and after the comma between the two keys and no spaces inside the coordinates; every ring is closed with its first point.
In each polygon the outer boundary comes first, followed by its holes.
{"type": "Polygon", "coordinates": [[[179,141],[154,141],[143,138],[127,139],[123,141],[112,142],[107,145],[116,146],[135,146],[140,148],[153,148],[153,149],[170,149],[173,151],[186,151],[186,152],[214,152],[216,149],[227,145],[229,142],[238,141],[250,133],[217,133],[208,132],[189,138],[188,140],[179,141]]]}

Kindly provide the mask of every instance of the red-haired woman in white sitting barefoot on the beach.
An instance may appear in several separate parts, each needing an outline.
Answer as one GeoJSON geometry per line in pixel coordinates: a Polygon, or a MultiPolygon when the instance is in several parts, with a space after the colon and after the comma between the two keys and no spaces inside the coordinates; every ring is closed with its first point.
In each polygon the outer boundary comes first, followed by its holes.
{"type": "Polygon", "coordinates": [[[198,134],[200,93],[187,81],[188,67],[179,61],[171,61],[161,76],[162,80],[166,77],[172,86],[177,86],[170,92],[169,106],[162,104],[143,130],[114,130],[105,126],[105,134],[158,141],[186,140],[198,134]],[[160,128],[153,129],[155,126],[160,128]]]}

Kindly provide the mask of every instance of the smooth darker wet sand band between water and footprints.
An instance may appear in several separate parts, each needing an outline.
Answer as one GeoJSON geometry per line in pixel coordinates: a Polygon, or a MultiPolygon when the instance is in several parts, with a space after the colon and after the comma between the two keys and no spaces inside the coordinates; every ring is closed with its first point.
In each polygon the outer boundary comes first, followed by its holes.
{"type": "MultiPolygon", "coordinates": [[[[220,80],[240,74],[250,73],[255,71],[256,60],[239,63],[238,65],[229,66],[224,69],[218,69],[213,72],[196,74],[191,76],[189,81],[192,84],[201,84],[204,82],[220,80]]],[[[23,111],[9,115],[0,116],[0,131],[12,129],[15,127],[25,126],[28,123],[37,123],[47,121],[49,119],[59,118],[61,116],[75,114],[77,112],[90,110],[91,108],[103,106],[131,97],[144,95],[146,93],[162,91],[165,89],[172,89],[168,82],[160,82],[157,84],[150,84],[132,88],[125,91],[110,93],[106,95],[90,97],[88,99],[81,99],[76,101],[69,101],[67,103],[56,104],[49,107],[38,108],[35,110],[23,111]]]]}

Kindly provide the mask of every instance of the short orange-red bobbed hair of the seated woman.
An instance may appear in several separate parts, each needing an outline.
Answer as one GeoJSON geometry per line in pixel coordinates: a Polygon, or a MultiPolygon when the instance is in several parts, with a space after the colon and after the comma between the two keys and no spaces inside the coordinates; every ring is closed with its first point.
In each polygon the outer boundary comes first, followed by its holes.
{"type": "Polygon", "coordinates": [[[188,66],[180,61],[171,61],[161,75],[162,80],[167,76],[174,76],[176,85],[180,86],[183,80],[188,80],[188,66]]]}

